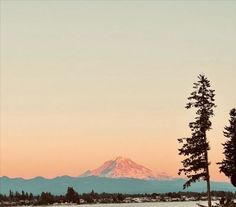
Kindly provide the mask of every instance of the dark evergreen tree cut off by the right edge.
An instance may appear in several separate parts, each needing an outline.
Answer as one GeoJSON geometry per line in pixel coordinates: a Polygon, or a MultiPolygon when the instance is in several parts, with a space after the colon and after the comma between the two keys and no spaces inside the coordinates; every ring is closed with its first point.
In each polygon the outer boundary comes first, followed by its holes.
{"type": "Polygon", "coordinates": [[[225,158],[220,165],[220,172],[231,178],[231,182],[236,186],[236,108],[230,111],[229,126],[225,127],[224,136],[227,141],[222,144],[224,146],[225,158]]]}

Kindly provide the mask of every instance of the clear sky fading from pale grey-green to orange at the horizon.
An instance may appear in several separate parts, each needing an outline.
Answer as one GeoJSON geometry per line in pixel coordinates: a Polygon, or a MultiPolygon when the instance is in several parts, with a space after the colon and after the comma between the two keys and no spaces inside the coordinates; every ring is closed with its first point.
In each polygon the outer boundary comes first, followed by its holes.
{"type": "Polygon", "coordinates": [[[1,0],[0,175],[78,176],[116,156],[178,177],[198,74],[216,90],[211,179],[227,181],[235,1],[1,0]]]}

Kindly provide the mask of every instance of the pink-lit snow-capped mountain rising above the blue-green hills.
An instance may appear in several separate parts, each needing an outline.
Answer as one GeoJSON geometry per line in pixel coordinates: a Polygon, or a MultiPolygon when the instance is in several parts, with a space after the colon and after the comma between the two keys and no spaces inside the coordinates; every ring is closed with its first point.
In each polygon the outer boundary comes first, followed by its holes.
{"type": "Polygon", "coordinates": [[[97,176],[106,178],[134,178],[134,179],[169,179],[165,174],[157,174],[152,170],[139,165],[129,158],[117,157],[106,161],[102,166],[88,170],[81,177],[97,176]]]}

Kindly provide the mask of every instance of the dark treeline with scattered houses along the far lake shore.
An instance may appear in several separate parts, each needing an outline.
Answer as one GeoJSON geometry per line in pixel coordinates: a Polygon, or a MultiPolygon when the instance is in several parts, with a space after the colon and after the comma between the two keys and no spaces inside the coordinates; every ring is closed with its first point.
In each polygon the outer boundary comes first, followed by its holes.
{"type": "MultiPolygon", "coordinates": [[[[196,192],[173,192],[173,193],[152,193],[152,194],[121,194],[121,193],[77,193],[72,187],[68,187],[65,195],[53,195],[50,192],[42,192],[41,195],[33,195],[28,192],[12,192],[8,195],[0,194],[0,206],[14,206],[14,205],[49,205],[54,203],[123,203],[125,199],[129,198],[149,198],[159,201],[166,201],[168,199],[176,199],[184,201],[187,198],[195,198],[201,200],[205,193],[196,192]]],[[[236,193],[224,191],[212,191],[212,196],[218,198],[236,198],[236,193]]],[[[168,200],[169,201],[169,200],[168,200]]]]}

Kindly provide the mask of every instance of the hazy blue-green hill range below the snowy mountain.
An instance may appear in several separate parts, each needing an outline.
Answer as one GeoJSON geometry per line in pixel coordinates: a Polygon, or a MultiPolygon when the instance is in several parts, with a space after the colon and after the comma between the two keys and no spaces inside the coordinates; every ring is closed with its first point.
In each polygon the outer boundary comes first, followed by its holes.
{"type": "MultiPolygon", "coordinates": [[[[165,193],[182,191],[184,179],[172,180],[142,180],[133,178],[106,178],[97,176],[88,177],[69,177],[62,176],[53,179],[36,177],[33,179],[0,177],[0,193],[8,194],[12,191],[32,192],[40,194],[41,192],[51,192],[53,194],[65,194],[67,187],[72,186],[79,193],[108,192],[108,193],[165,193]]],[[[212,182],[212,190],[232,191],[234,188],[230,183],[212,182]]],[[[204,192],[206,183],[198,182],[187,191],[204,192]]]]}

